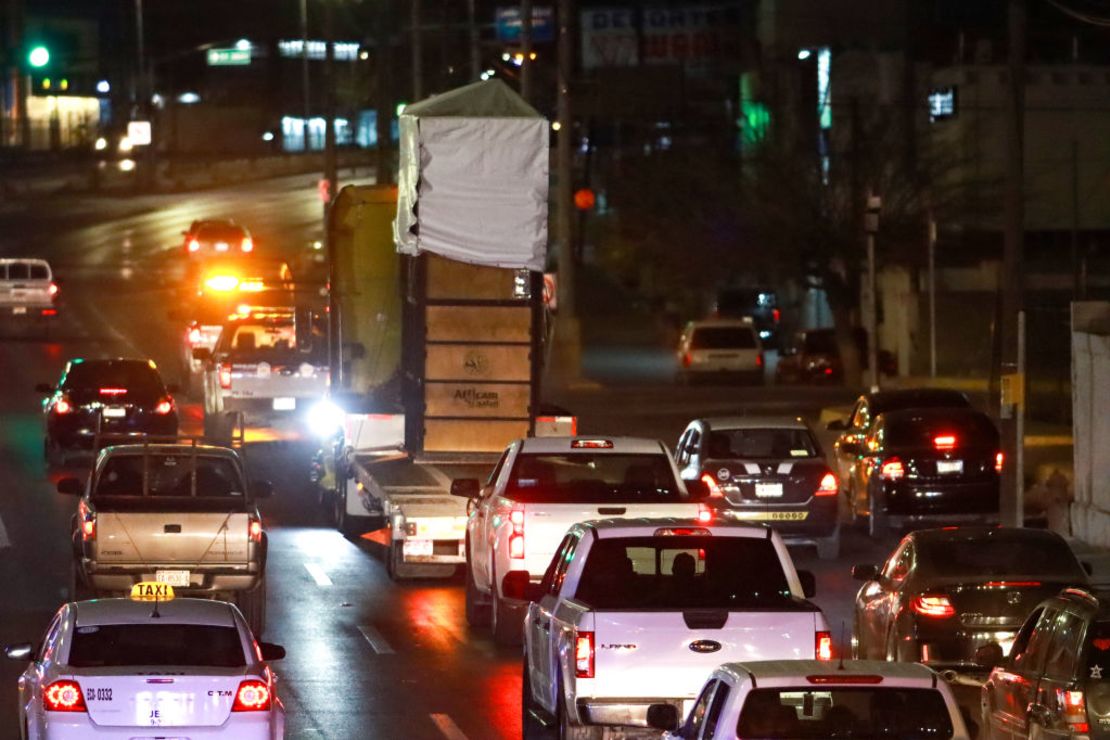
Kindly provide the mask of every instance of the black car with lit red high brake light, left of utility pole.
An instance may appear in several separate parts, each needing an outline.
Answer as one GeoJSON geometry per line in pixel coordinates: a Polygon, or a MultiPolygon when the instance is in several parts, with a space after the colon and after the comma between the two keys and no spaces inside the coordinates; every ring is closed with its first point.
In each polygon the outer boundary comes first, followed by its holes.
{"type": "Polygon", "coordinates": [[[971,408],[884,412],[846,481],[868,533],[927,521],[995,521],[1003,455],[995,423],[971,408]]]}

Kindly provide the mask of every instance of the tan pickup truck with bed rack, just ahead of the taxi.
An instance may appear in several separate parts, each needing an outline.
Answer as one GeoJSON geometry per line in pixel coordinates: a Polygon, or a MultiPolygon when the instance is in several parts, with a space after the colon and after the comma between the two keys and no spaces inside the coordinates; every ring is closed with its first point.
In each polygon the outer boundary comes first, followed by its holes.
{"type": "Polygon", "coordinates": [[[78,495],[71,598],[128,594],[157,580],[182,596],[234,600],[251,629],[265,624],[266,535],[239,454],[198,444],[105,447],[78,495]]]}

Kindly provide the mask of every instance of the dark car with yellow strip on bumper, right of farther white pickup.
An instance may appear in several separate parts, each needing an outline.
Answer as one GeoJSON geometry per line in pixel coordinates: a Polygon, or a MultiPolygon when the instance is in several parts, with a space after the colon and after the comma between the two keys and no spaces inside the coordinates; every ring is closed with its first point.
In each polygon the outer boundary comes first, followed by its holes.
{"type": "Polygon", "coordinates": [[[725,516],[770,524],[787,541],[816,545],[823,559],[839,554],[839,486],[803,419],[695,419],[675,462],[684,480],[709,487],[725,516]]]}

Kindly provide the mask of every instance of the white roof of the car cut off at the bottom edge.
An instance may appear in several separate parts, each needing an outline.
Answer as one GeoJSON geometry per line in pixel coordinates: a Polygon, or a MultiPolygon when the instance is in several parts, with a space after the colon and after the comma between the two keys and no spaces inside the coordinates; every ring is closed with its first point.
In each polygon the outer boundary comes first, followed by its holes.
{"type": "MultiPolygon", "coordinates": [[[[755,678],[757,686],[791,686],[804,683],[807,676],[881,676],[894,679],[897,687],[937,686],[937,673],[921,663],[887,662],[886,660],[755,660],[729,662],[718,670],[729,673],[738,682],[755,678]]],[[[829,683],[821,683],[826,689],[829,683]]],[[[849,685],[851,686],[851,685],[849,685]]],[[[882,686],[878,683],[875,686],[882,686]]]]}

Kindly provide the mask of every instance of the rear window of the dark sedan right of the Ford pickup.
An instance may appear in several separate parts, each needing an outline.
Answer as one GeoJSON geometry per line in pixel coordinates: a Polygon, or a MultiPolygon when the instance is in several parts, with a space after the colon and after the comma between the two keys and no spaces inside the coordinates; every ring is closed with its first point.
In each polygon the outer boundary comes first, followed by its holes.
{"type": "Polygon", "coordinates": [[[917,548],[918,562],[940,577],[1040,576],[1086,580],[1071,548],[1056,538],[920,538],[917,548]]]}

